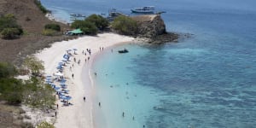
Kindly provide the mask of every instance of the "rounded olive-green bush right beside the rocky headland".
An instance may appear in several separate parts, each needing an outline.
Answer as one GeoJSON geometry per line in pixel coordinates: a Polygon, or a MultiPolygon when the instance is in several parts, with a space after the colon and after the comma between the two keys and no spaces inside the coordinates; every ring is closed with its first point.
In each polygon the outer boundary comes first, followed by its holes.
{"type": "Polygon", "coordinates": [[[137,22],[130,17],[119,15],[113,20],[112,27],[115,31],[125,35],[137,34],[137,22]]]}

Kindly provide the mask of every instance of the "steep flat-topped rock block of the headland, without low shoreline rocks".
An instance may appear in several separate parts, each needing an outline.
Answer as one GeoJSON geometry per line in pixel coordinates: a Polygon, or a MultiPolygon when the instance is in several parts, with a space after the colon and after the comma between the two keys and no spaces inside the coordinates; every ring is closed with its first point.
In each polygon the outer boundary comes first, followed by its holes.
{"type": "Polygon", "coordinates": [[[160,15],[138,15],[132,17],[137,21],[139,36],[154,38],[166,34],[166,25],[160,15]]]}

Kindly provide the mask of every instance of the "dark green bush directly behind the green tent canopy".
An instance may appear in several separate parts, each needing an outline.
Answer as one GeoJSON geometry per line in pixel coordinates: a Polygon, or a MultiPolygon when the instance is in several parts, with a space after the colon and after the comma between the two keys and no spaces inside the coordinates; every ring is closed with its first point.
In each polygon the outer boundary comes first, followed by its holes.
{"type": "Polygon", "coordinates": [[[75,20],[71,27],[75,29],[80,28],[81,31],[88,35],[96,35],[97,33],[96,25],[88,20],[75,20]]]}

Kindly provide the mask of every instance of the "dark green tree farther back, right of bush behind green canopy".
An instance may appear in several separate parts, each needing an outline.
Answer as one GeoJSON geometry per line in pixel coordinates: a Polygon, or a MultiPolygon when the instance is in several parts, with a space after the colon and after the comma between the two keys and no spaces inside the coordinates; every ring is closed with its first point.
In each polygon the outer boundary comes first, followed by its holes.
{"type": "Polygon", "coordinates": [[[104,30],[109,25],[108,20],[103,18],[101,15],[90,15],[85,20],[94,23],[100,30],[104,30]]]}

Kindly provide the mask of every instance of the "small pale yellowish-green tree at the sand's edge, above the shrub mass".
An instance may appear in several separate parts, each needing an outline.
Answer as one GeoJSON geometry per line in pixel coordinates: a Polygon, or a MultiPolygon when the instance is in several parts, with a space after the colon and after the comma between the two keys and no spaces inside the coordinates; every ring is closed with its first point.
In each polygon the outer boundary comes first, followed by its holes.
{"type": "Polygon", "coordinates": [[[33,55],[26,57],[24,65],[31,70],[32,74],[38,74],[41,70],[44,70],[43,61],[39,61],[33,55]]]}

